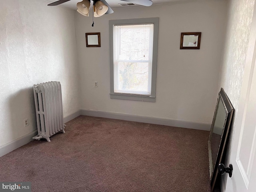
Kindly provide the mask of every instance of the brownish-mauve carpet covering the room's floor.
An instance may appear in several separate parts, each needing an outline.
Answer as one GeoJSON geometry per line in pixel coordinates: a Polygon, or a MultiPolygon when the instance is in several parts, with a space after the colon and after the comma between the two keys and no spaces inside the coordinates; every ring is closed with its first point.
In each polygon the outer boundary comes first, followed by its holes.
{"type": "Polygon", "coordinates": [[[207,131],[79,116],[0,158],[33,192],[209,192],[207,131]]]}

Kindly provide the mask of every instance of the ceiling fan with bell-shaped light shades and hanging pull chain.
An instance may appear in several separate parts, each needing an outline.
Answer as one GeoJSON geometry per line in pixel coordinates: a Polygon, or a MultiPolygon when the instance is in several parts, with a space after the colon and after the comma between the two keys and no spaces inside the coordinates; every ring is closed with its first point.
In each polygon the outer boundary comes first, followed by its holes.
{"type": "MultiPolygon", "coordinates": [[[[48,4],[48,6],[56,6],[62,4],[64,2],[68,2],[70,0],[58,0],[56,2],[48,4]]],[[[77,12],[82,14],[83,16],[89,16],[89,9],[90,9],[90,1],[91,0],[82,0],[76,4],[77,12]]],[[[151,0],[121,0],[125,2],[130,2],[138,5],[143,6],[151,6],[151,0]]],[[[114,13],[112,8],[105,0],[92,0],[92,27],[94,26],[94,17],[100,17],[104,14],[111,14],[114,13]]]]}

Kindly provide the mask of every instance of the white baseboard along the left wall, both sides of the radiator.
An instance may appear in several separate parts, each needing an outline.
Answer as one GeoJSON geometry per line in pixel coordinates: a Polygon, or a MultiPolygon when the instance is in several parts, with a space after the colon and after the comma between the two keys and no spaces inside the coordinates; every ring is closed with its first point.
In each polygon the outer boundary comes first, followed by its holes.
{"type": "MultiPolygon", "coordinates": [[[[80,116],[81,114],[81,110],[77,110],[76,112],[72,113],[72,114],[68,114],[67,116],[65,116],[63,118],[64,123],[80,116]]],[[[29,143],[30,141],[34,140],[32,139],[32,137],[37,135],[37,130],[34,130],[33,132],[26,134],[16,140],[13,140],[10,143],[7,143],[3,146],[0,146],[0,157],[4,156],[5,154],[10,153],[11,151],[29,143]]]]}

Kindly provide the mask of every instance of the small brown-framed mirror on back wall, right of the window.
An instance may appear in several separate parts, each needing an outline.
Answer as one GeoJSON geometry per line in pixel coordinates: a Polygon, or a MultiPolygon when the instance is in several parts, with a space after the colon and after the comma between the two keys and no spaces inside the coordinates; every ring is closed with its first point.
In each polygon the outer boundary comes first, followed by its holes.
{"type": "Polygon", "coordinates": [[[201,32],[181,33],[180,49],[200,49],[201,32]]]}

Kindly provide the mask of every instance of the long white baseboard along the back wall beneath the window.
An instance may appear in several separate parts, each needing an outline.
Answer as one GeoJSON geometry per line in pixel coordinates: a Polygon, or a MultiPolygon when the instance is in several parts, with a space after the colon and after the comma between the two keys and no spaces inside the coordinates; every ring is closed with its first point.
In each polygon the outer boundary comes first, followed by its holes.
{"type": "Polygon", "coordinates": [[[81,115],[210,131],[211,124],[81,109],[81,115]]]}

